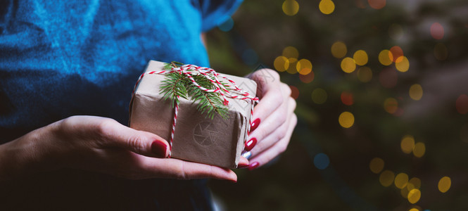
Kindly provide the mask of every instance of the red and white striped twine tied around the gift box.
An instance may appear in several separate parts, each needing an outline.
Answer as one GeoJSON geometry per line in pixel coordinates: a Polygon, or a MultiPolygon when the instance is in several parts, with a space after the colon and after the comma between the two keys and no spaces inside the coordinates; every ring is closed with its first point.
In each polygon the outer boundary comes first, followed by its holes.
{"type": "MultiPolygon", "coordinates": [[[[229,104],[229,101],[227,100],[227,98],[239,99],[239,100],[250,102],[251,103],[251,115],[253,115],[253,107],[255,106],[254,103],[258,103],[258,97],[251,96],[251,94],[248,94],[247,91],[243,91],[242,89],[239,89],[239,87],[237,87],[236,85],[236,82],[234,82],[232,79],[229,79],[229,77],[220,75],[219,73],[217,73],[215,70],[211,68],[202,68],[196,65],[182,65],[181,67],[171,68],[171,70],[144,72],[143,74],[140,75],[139,79],[137,80],[137,83],[135,84],[132,94],[135,94],[135,91],[137,89],[139,82],[145,75],[151,75],[151,74],[167,75],[172,72],[178,72],[179,74],[186,75],[186,77],[190,79],[192,84],[194,84],[196,87],[198,87],[198,89],[201,89],[202,91],[220,94],[224,100],[223,102],[224,106],[227,106],[229,104]],[[208,79],[213,84],[215,89],[207,89],[205,87],[201,87],[200,84],[195,82],[195,79],[194,77],[192,77],[192,75],[203,75],[206,79],[208,79]],[[220,80],[218,79],[218,77],[222,77],[223,79],[227,80],[230,84],[222,84],[220,80]]],[[[172,121],[172,129],[170,132],[169,148],[171,151],[172,151],[172,141],[174,140],[175,123],[177,121],[178,110],[179,110],[179,96],[177,96],[177,101],[175,102],[174,120],[172,121]]],[[[250,118],[248,122],[247,134],[251,133],[251,124],[252,124],[252,120],[250,118]]],[[[244,143],[245,142],[246,140],[244,140],[244,143]]],[[[169,152],[169,158],[170,158],[170,152],[169,152]]]]}

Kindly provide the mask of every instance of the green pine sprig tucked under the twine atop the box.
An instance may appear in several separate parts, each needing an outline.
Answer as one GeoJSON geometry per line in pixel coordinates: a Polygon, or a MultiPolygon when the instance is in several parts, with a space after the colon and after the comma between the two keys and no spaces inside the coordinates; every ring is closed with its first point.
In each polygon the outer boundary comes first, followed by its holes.
{"type": "MultiPolygon", "coordinates": [[[[165,65],[165,70],[170,70],[173,67],[179,67],[183,65],[182,63],[167,63],[165,65]]],[[[228,108],[224,106],[224,100],[221,98],[220,94],[213,92],[206,92],[198,87],[196,87],[189,78],[183,74],[177,72],[172,72],[165,75],[163,84],[160,87],[160,94],[163,94],[164,100],[168,98],[172,101],[172,107],[175,106],[175,102],[179,103],[177,96],[182,98],[190,98],[192,101],[198,101],[197,110],[200,113],[206,113],[206,117],[209,117],[213,120],[215,113],[221,115],[222,118],[227,118],[228,108]]],[[[201,87],[207,89],[215,89],[210,80],[208,80],[203,75],[193,75],[195,82],[201,87]]],[[[212,79],[214,79],[212,77],[212,79]]]]}

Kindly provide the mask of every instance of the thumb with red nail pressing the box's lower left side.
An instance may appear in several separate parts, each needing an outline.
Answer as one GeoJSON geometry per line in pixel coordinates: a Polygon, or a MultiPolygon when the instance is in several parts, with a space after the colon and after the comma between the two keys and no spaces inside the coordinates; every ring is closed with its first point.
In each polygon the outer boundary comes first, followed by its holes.
{"type": "Polygon", "coordinates": [[[156,134],[126,127],[115,120],[104,120],[99,130],[110,146],[156,158],[167,158],[169,155],[169,144],[156,134]]]}

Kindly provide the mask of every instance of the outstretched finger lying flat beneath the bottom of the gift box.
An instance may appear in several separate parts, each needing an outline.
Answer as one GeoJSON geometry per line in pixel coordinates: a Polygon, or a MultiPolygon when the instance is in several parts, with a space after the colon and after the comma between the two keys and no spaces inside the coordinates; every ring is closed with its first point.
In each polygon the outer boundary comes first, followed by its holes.
{"type": "Polygon", "coordinates": [[[224,179],[237,181],[237,175],[232,170],[197,162],[188,162],[173,158],[144,158],[144,170],[152,177],[177,179],[224,179]]]}

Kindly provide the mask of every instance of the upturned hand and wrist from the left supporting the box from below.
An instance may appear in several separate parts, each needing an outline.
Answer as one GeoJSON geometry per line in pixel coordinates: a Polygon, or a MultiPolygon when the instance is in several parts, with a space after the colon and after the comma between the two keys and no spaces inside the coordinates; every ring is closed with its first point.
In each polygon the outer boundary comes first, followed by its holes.
{"type": "Polygon", "coordinates": [[[166,158],[168,154],[167,141],[156,134],[105,117],[74,116],[0,145],[0,181],[62,167],[127,179],[237,180],[232,170],[166,158]]]}

